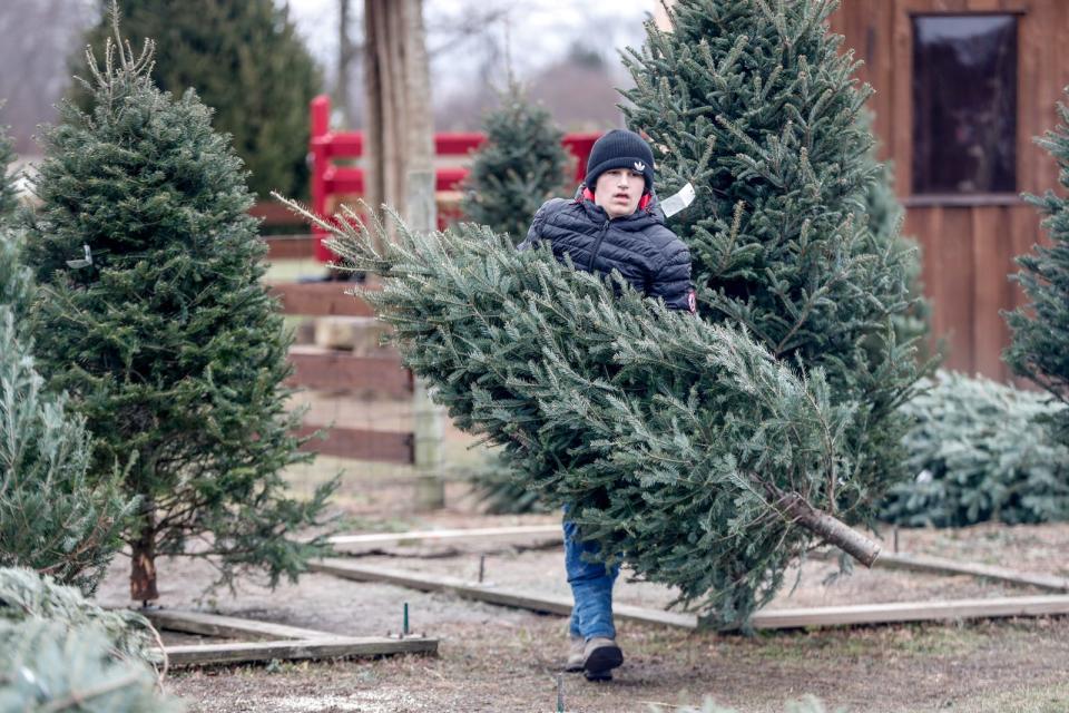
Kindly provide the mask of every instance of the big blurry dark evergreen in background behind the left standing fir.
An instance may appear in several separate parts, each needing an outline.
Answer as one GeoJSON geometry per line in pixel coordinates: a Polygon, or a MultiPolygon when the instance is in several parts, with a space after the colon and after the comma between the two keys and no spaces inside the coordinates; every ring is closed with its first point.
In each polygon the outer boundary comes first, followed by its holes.
{"type": "MultiPolygon", "coordinates": [[[[285,3],[99,0],[102,19],[87,38],[98,51],[111,35],[112,2],[135,46],[167,38],[151,70],[156,86],[175,96],[193,88],[213,108],[212,123],[231,135],[255,194],[306,194],[308,102],[322,79],[285,3]]],[[[76,59],[76,75],[89,71],[81,53],[76,59]]],[[[76,98],[84,110],[92,107],[91,91],[76,91],[76,98]]]]}

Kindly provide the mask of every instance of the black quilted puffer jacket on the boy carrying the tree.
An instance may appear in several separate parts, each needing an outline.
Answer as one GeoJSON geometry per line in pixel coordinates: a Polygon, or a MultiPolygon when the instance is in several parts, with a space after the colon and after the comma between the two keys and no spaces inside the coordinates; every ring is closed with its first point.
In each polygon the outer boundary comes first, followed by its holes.
{"type": "Polygon", "coordinates": [[[576,268],[608,275],[618,270],[627,282],[649,297],[660,297],[673,310],[694,312],[690,252],[665,227],[656,196],[645,209],[609,219],[605,208],[582,197],[553,198],[534,214],[519,250],[549,242],[553,255],[571,257],[576,268]]]}

